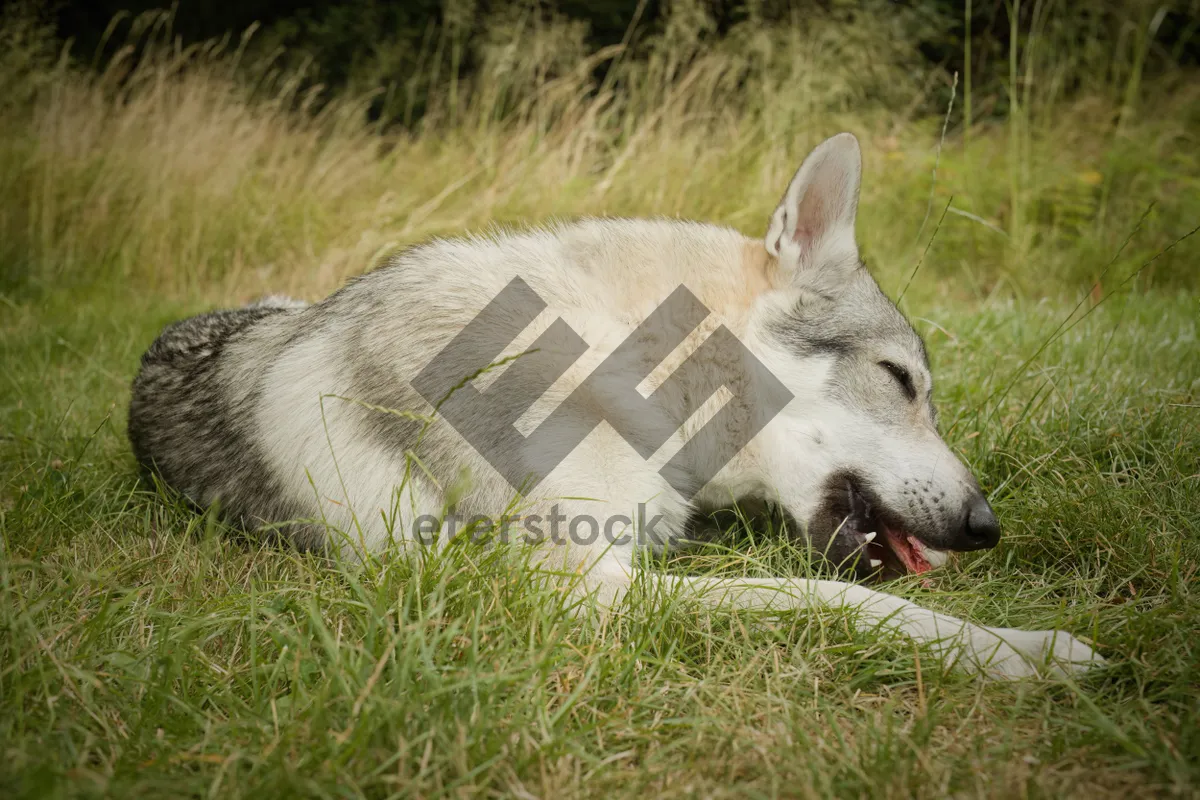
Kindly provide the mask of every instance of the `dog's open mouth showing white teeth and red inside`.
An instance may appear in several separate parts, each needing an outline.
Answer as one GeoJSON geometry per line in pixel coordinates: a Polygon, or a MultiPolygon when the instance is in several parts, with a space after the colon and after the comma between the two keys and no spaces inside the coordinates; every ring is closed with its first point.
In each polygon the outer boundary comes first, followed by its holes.
{"type": "Polygon", "coordinates": [[[842,537],[844,547],[838,548],[854,561],[854,572],[882,579],[924,575],[947,560],[944,551],[934,549],[913,534],[887,519],[878,503],[853,481],[844,487],[844,500],[838,505],[844,511],[841,525],[835,536],[842,537]],[[848,546],[848,547],[847,547],[848,546]]]}

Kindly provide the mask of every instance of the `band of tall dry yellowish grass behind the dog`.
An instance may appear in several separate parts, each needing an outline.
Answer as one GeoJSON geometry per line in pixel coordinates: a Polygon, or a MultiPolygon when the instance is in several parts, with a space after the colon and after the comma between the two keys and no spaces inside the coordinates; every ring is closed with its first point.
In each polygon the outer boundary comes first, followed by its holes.
{"type": "MultiPolygon", "coordinates": [[[[920,109],[949,101],[950,78],[896,24],[751,16],[718,38],[678,4],[635,53],[509,14],[474,77],[414,76],[438,94],[420,122],[384,130],[365,114],[374,95],[320,98],[248,35],[184,48],[169,14],[149,16],[91,68],[10,13],[0,278],[312,296],[389,248],[493,223],[680,215],[756,233],[808,148],[841,130],[864,144],[859,235],[892,289],[920,261],[914,293],[1055,295],[1099,278],[1136,229],[1111,283],[1200,218],[1196,82],[1151,89],[1126,71],[1068,96],[1078,65],[1032,31],[1004,65],[1007,116],[973,98],[966,128],[958,88],[940,144],[943,120],[920,109]]],[[[1135,285],[1200,284],[1188,247],[1135,285]]]]}

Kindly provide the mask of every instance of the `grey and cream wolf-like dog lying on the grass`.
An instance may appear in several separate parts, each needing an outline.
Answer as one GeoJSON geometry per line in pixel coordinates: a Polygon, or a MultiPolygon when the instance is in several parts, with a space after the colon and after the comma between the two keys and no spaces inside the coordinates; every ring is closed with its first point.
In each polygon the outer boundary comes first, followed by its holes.
{"type": "MultiPolygon", "coordinates": [[[[640,547],[678,546],[697,509],[731,501],[778,506],[858,577],[992,547],[996,516],[938,434],[925,347],[859,259],[860,162],[852,134],[818,145],[762,239],[674,219],[583,219],[437,240],[314,305],[269,299],[170,325],[133,384],[134,455],[198,506],[326,552],[444,541],[448,506],[494,521],[515,497],[527,521],[589,519],[604,536],[577,536],[580,525],[535,545],[604,607],[629,595],[640,547]],[[514,285],[540,303],[529,324],[515,307],[497,311],[514,285]],[[672,347],[640,325],[680,287],[710,314],[680,323],[686,336],[672,347]],[[472,327],[487,309],[492,321],[472,327]],[[484,335],[506,347],[480,369],[452,345],[488,325],[484,335]],[[703,347],[718,333],[740,344],[703,347]],[[587,383],[638,336],[637,397],[587,383]],[[420,389],[431,363],[457,378],[445,395],[420,389]],[[518,385],[536,387],[528,402],[509,399],[518,385]],[[455,390],[487,403],[450,425],[442,403],[455,390]],[[640,398],[650,395],[661,402],[647,411],[640,398]],[[554,435],[530,433],[548,420],[554,435]],[[648,423],[670,435],[638,440],[648,423]],[[562,445],[562,457],[540,464],[534,439],[562,445]],[[515,489],[505,474],[526,468],[538,480],[515,489]]],[[[646,579],[708,606],[852,608],[859,624],[994,676],[1102,661],[1064,632],[973,625],[859,583],[646,579]]]]}

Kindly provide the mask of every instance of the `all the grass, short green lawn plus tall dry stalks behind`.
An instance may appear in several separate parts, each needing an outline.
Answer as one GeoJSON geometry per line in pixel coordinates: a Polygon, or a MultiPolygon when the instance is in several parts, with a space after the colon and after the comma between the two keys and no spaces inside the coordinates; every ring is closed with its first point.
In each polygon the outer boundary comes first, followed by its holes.
{"type": "MultiPolygon", "coordinates": [[[[1019,122],[977,124],[968,148],[952,126],[931,186],[941,115],[851,114],[826,40],[780,36],[829,85],[790,96],[778,64],[737,72],[714,47],[650,59],[607,100],[568,74],[538,95],[557,104],[499,121],[468,86],[452,124],[406,136],[359,122],[354,98],[296,113],[286,76],[254,94],[210,50],[95,73],[8,48],[2,85],[31,89],[0,116],[0,792],[1194,795],[1200,237],[1151,259],[1200,221],[1195,84],[1142,79],[1144,115],[1124,85],[1026,91],[1019,122]],[[1117,108],[1120,131],[1094,124],[1117,108]],[[919,260],[904,302],[943,429],[1006,529],[932,588],[890,590],[1067,628],[1103,670],[982,682],[827,613],[650,599],[578,619],[468,547],[336,571],[136,479],[128,381],[170,320],[264,289],[319,296],[386,247],[490,222],[757,231],[803,150],[844,127],[866,154],[868,260],[893,294],[919,260]]],[[[752,551],[799,569],[779,543],[752,551]]]]}

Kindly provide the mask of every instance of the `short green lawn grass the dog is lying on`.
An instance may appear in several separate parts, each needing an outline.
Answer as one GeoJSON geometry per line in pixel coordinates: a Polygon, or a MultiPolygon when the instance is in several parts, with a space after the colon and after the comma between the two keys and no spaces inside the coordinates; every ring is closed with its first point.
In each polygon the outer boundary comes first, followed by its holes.
{"type": "Polygon", "coordinates": [[[943,674],[832,613],[755,624],[652,602],[600,624],[472,548],[346,573],[222,537],[139,486],[122,432],[139,351],[190,311],[79,293],[5,309],[8,796],[1194,790],[1192,296],[1111,301],[1027,366],[1060,309],[916,314],[949,439],[1006,539],[894,590],[1062,626],[1109,660],[1013,685],[943,674]]]}

